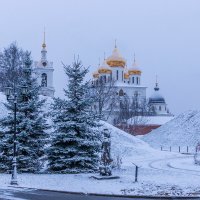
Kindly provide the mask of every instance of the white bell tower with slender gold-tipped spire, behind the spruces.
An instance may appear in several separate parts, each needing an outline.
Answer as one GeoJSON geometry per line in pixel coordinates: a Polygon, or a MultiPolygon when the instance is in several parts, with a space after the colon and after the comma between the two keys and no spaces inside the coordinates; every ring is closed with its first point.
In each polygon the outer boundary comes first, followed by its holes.
{"type": "Polygon", "coordinates": [[[41,50],[41,59],[34,63],[34,72],[37,77],[38,84],[40,85],[40,94],[44,96],[54,97],[55,89],[53,87],[53,62],[47,59],[46,41],[44,41],[41,50]]]}

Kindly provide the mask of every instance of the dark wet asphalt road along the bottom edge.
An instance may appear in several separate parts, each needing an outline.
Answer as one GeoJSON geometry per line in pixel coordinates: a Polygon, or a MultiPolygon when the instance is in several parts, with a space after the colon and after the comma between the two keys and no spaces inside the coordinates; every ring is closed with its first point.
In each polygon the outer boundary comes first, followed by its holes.
{"type": "MultiPolygon", "coordinates": [[[[149,199],[173,199],[178,198],[121,198],[121,197],[104,197],[90,196],[79,194],[67,194],[62,192],[49,192],[43,190],[16,190],[16,189],[0,189],[0,200],[149,200],[149,199]]],[[[179,198],[180,199],[180,198],[179,198]]],[[[187,200],[194,198],[187,198],[187,200]]],[[[195,198],[197,199],[197,198],[195,198]]],[[[198,198],[200,199],[200,198],[198,198]]]]}

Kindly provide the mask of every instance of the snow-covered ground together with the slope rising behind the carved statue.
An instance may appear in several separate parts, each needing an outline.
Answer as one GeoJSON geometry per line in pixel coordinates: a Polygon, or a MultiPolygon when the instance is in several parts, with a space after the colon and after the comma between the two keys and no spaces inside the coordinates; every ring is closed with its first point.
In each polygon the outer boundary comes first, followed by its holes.
{"type": "MultiPolygon", "coordinates": [[[[103,194],[158,196],[200,194],[198,180],[200,167],[192,168],[191,155],[155,150],[140,139],[107,123],[104,123],[102,128],[111,130],[113,158],[115,159],[117,155],[122,158],[121,169],[113,171],[113,175],[120,176],[120,179],[95,180],[91,178],[94,174],[20,174],[19,186],[103,194]],[[134,182],[133,163],[140,167],[137,183],[134,182]],[[181,164],[184,164],[186,169],[182,169],[181,164]]],[[[10,178],[9,174],[1,174],[0,188],[6,188],[10,178]]]]}

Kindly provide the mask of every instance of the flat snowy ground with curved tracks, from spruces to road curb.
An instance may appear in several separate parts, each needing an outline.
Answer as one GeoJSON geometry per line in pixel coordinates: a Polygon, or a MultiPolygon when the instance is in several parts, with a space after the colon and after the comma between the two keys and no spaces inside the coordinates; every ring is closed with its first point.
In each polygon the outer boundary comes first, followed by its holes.
{"type": "MultiPolygon", "coordinates": [[[[140,161],[137,183],[134,182],[134,167],[129,166],[114,171],[114,175],[120,176],[116,180],[95,180],[91,178],[94,174],[23,174],[18,175],[19,186],[83,193],[200,196],[200,170],[191,168],[192,158],[182,155],[166,157],[140,161]],[[187,166],[180,168],[181,163],[188,163],[189,169],[187,166]]],[[[6,188],[10,178],[8,174],[0,175],[0,188],[6,188]]]]}

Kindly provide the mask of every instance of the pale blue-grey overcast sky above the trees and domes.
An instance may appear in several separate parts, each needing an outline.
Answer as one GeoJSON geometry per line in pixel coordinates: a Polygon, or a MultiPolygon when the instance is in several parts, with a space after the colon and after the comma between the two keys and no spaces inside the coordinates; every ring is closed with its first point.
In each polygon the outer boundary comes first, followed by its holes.
{"type": "Polygon", "coordinates": [[[128,65],[136,53],[147,95],[157,74],[173,113],[200,109],[199,0],[0,0],[0,14],[0,48],[17,41],[34,60],[46,27],[56,96],[66,84],[61,61],[70,64],[79,54],[92,71],[117,39],[128,65]]]}

